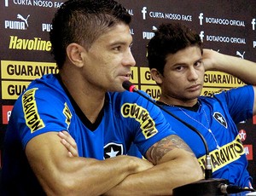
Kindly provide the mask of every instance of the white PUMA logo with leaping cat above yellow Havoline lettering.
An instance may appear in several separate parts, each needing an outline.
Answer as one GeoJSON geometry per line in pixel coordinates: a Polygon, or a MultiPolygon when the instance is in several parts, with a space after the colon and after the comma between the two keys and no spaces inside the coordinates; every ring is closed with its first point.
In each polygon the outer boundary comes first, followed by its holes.
{"type": "Polygon", "coordinates": [[[26,17],[22,16],[21,14],[17,14],[17,19],[20,19],[18,21],[15,20],[5,20],[4,21],[4,27],[6,29],[16,29],[16,30],[26,30],[28,27],[28,18],[30,14],[28,14],[26,17]]]}

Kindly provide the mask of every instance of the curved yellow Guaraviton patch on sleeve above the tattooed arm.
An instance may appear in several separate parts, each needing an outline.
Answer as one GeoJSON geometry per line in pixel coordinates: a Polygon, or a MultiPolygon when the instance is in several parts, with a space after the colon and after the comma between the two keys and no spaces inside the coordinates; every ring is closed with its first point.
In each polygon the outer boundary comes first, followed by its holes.
{"type": "Polygon", "coordinates": [[[155,135],[158,130],[155,128],[154,120],[150,117],[148,111],[144,107],[138,106],[136,103],[125,103],[121,107],[121,113],[125,118],[135,118],[146,139],[155,135]]]}

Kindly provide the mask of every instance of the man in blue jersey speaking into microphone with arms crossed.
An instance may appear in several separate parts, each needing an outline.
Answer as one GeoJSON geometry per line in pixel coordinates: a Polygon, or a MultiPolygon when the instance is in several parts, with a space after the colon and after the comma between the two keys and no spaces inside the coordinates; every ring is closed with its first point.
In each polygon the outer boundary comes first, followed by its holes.
{"type": "Polygon", "coordinates": [[[130,20],[113,0],[70,0],[57,11],[50,41],[60,73],[15,102],[1,195],[168,195],[203,177],[160,109],[122,87],[135,66],[130,20]],[[61,144],[63,130],[79,157],[61,144]],[[125,155],[131,142],[148,161],[125,155]]]}

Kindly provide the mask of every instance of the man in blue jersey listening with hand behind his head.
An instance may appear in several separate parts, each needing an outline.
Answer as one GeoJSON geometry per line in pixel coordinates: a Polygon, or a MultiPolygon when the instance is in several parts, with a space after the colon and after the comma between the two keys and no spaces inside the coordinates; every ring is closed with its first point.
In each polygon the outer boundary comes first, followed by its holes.
{"type": "MultiPolygon", "coordinates": [[[[240,187],[251,187],[247,158],[236,124],[256,114],[256,63],[201,48],[201,39],[189,27],[163,24],[148,43],[148,66],[166,110],[195,127],[207,141],[212,157],[212,177],[240,187]],[[201,96],[205,71],[230,73],[246,84],[201,96]]],[[[195,153],[204,168],[206,150],[199,135],[167,112],[164,115],[195,153]],[[175,123],[173,122],[175,121],[175,123]]]]}

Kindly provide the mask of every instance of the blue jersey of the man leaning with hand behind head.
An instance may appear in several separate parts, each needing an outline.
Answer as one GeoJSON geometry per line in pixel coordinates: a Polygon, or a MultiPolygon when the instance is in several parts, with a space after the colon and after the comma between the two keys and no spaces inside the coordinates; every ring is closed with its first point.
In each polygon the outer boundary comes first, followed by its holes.
{"type": "MultiPolygon", "coordinates": [[[[247,171],[247,158],[236,124],[253,117],[253,101],[253,87],[247,85],[223,91],[213,97],[200,96],[196,111],[157,102],[201,132],[212,158],[213,178],[227,179],[230,184],[240,187],[251,187],[252,178],[247,171]]],[[[163,112],[172,130],[189,144],[204,169],[206,148],[200,136],[167,112],[163,112]]],[[[131,147],[129,154],[139,156],[135,146],[131,147]]]]}

